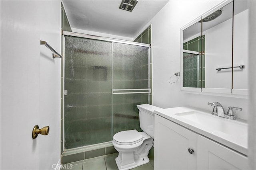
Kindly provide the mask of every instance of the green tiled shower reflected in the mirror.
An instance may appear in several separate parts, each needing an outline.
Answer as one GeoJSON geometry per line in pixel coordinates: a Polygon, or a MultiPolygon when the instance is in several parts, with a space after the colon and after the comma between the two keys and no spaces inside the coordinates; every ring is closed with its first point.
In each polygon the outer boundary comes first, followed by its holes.
{"type": "MultiPolygon", "coordinates": [[[[191,39],[190,41],[187,41],[183,43],[183,49],[184,50],[190,50],[190,51],[205,51],[205,35],[202,35],[199,37],[196,37],[194,39],[191,39]],[[201,45],[202,43],[202,45],[201,45]],[[202,48],[202,50],[201,50],[202,48]]],[[[186,55],[183,56],[183,68],[184,69],[184,76],[183,76],[183,86],[184,87],[204,87],[205,84],[205,78],[204,78],[204,58],[205,55],[202,55],[202,61],[201,57],[199,57],[199,70],[202,69],[202,72],[199,72],[199,80],[197,80],[197,57],[196,55],[186,55]],[[203,65],[202,65],[202,64],[203,65]]]]}

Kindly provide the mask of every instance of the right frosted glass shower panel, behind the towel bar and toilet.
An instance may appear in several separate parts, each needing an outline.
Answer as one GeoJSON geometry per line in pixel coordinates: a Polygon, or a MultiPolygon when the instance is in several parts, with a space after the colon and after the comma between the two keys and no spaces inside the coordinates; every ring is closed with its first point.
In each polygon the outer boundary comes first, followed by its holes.
{"type": "MultiPolygon", "coordinates": [[[[112,89],[119,89],[121,93],[133,93],[145,90],[127,89],[150,88],[149,47],[113,43],[112,50],[112,89]]],[[[131,129],[141,131],[136,105],[147,104],[149,101],[149,93],[112,94],[112,135],[131,129]]]]}

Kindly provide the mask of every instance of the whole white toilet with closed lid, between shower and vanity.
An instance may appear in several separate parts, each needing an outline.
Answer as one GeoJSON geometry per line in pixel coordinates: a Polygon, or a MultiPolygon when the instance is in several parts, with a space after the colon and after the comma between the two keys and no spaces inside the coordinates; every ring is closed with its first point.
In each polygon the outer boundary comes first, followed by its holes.
{"type": "Polygon", "coordinates": [[[140,128],[136,130],[121,131],[114,135],[113,145],[119,152],[116,165],[119,170],[128,170],[149,162],[148,151],[154,139],[154,110],[160,107],[149,104],[137,105],[140,116],[140,128]]]}

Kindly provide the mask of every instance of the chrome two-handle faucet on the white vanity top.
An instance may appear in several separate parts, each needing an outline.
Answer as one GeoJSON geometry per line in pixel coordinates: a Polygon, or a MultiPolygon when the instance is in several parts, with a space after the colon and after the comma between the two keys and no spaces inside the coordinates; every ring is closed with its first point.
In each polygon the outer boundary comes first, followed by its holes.
{"type": "Polygon", "coordinates": [[[226,114],[223,106],[219,102],[213,102],[213,103],[208,102],[208,105],[213,106],[213,109],[212,109],[212,114],[213,115],[217,115],[217,116],[220,116],[220,117],[225,117],[225,118],[228,118],[228,119],[236,119],[236,117],[235,117],[236,112],[233,109],[240,110],[240,111],[243,110],[240,107],[228,107],[229,109],[228,109],[228,112],[226,114]]]}

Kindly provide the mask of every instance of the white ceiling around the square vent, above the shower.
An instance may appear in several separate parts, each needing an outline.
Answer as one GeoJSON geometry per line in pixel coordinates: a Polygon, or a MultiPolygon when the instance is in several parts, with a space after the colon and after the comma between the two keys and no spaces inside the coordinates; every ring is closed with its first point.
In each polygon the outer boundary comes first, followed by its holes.
{"type": "Polygon", "coordinates": [[[119,9],[122,0],[63,0],[63,3],[72,28],[134,38],[168,1],[138,0],[132,12],[119,9]]]}

